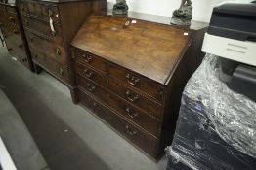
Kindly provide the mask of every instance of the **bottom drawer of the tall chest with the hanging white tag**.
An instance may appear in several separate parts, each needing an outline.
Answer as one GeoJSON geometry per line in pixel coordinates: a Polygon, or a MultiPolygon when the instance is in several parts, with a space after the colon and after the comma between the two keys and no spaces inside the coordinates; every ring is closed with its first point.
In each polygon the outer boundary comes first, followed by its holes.
{"type": "Polygon", "coordinates": [[[55,76],[65,84],[71,84],[70,75],[66,66],[56,62],[50,57],[47,57],[44,53],[34,51],[33,49],[30,49],[30,51],[32,55],[32,60],[36,64],[43,67],[46,71],[51,73],[53,76],[55,76]]]}

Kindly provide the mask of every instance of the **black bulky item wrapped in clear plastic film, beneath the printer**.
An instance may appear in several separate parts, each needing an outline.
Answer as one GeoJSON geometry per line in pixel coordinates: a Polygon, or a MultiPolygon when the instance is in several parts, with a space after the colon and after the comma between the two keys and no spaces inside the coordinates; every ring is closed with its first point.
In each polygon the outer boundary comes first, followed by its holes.
{"type": "Polygon", "coordinates": [[[256,103],[219,80],[217,58],[206,55],[185,88],[167,170],[256,167],[256,103]]]}

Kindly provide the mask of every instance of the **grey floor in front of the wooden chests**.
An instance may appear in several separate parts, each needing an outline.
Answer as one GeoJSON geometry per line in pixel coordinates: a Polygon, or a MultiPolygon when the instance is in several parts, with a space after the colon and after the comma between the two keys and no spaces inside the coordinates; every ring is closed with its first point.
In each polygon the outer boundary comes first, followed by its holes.
{"type": "MultiPolygon", "coordinates": [[[[36,75],[0,48],[0,88],[26,124],[49,168],[57,170],[164,170],[84,108],[45,72],[36,75]]],[[[1,106],[0,106],[1,107],[1,106]]]]}

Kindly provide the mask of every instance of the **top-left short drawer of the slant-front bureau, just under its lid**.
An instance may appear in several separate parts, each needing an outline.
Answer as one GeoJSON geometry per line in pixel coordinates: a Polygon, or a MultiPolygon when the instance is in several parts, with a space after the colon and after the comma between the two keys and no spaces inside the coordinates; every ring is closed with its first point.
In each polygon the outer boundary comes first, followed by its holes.
{"type": "Polygon", "coordinates": [[[77,57],[77,61],[85,65],[90,65],[97,70],[107,73],[107,62],[99,56],[93,55],[86,51],[80,51],[75,49],[74,55],[77,57]]]}

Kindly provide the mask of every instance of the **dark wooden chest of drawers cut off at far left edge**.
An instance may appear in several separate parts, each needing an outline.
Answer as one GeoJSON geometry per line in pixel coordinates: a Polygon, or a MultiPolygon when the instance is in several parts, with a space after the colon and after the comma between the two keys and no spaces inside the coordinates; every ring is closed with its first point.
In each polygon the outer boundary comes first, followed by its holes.
{"type": "Polygon", "coordinates": [[[33,71],[16,1],[0,1],[0,29],[3,46],[5,42],[9,53],[22,65],[33,71]]]}

